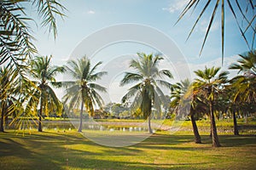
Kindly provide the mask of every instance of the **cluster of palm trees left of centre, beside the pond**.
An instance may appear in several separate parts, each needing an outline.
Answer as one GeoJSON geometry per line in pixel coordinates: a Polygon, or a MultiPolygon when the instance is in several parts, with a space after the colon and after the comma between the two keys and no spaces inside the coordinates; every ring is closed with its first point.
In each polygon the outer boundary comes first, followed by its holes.
{"type": "Polygon", "coordinates": [[[67,94],[63,99],[64,104],[68,103],[68,110],[81,103],[79,132],[82,130],[84,105],[90,115],[94,112],[93,105],[102,106],[102,98],[96,91],[106,91],[106,88],[93,83],[106,74],[96,72],[101,62],[91,66],[90,59],[84,57],[77,61],[69,61],[67,66],[55,66],[51,65],[51,58],[52,56],[35,57],[26,63],[26,67],[19,70],[14,70],[11,65],[2,66],[1,132],[4,132],[3,124],[8,122],[8,116],[13,117],[10,125],[15,124],[19,128],[29,127],[33,121],[38,125],[38,132],[42,132],[42,117],[49,116],[53,111],[61,115],[63,111],[63,103],[57,98],[53,88],[67,88],[67,94]],[[66,71],[72,74],[74,80],[57,82],[55,76],[66,71]],[[35,117],[38,121],[34,121],[35,117]]]}

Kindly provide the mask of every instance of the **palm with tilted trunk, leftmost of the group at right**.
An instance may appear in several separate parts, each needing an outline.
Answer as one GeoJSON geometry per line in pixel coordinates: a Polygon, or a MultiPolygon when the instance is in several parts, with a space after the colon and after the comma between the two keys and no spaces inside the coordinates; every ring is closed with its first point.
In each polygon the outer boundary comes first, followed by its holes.
{"type": "Polygon", "coordinates": [[[201,108],[199,107],[200,102],[197,101],[195,95],[193,95],[194,90],[192,83],[189,82],[189,79],[185,79],[174,84],[172,88],[171,106],[175,108],[177,114],[184,112],[184,116],[190,116],[195,136],[195,144],[201,144],[201,136],[195,121],[196,112],[199,112],[201,108]]]}

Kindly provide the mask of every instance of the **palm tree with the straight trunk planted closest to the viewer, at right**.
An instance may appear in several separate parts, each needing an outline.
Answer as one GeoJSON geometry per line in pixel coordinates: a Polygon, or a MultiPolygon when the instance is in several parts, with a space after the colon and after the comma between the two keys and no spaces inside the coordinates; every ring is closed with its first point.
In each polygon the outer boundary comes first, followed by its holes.
{"type": "Polygon", "coordinates": [[[221,86],[227,82],[227,75],[229,74],[227,71],[223,71],[218,74],[219,70],[220,67],[213,66],[212,68],[206,67],[204,71],[194,71],[195,75],[199,77],[195,79],[195,90],[198,91],[198,93],[203,94],[204,99],[201,100],[207,100],[209,105],[213,147],[220,146],[214,117],[214,102],[216,100],[216,94],[218,94],[219,88],[221,88],[221,86]]]}

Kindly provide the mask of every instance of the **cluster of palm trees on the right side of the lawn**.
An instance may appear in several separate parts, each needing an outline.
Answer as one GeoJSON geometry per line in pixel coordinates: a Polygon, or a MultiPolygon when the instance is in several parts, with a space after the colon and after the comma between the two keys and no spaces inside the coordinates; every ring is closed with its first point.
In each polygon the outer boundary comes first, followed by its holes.
{"type": "Polygon", "coordinates": [[[220,146],[215,123],[215,113],[230,111],[234,119],[234,134],[238,135],[236,114],[255,112],[256,105],[256,52],[240,55],[230,70],[238,70],[236,77],[228,79],[228,71],[220,67],[195,71],[194,82],[188,79],[172,86],[171,106],[177,115],[190,116],[195,134],[195,143],[201,143],[195,117],[207,114],[211,120],[212,145],[220,146]]]}

